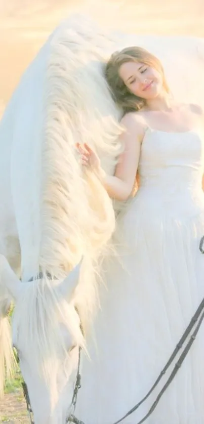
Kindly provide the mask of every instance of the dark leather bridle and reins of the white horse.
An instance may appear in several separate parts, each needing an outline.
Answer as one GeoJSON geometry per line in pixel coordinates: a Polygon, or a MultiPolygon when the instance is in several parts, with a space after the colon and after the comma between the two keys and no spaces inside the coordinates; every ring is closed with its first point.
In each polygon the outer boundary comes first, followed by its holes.
{"type": "MultiPolygon", "coordinates": [[[[200,239],[199,250],[202,254],[204,253],[204,236],[200,239]]],[[[154,389],[158,385],[161,378],[165,375],[166,371],[169,369],[170,365],[172,364],[173,360],[177,356],[178,352],[183,347],[183,344],[186,342],[187,337],[189,336],[189,341],[186,344],[185,348],[183,349],[183,352],[181,353],[178,361],[176,362],[175,367],[174,367],[173,371],[171,372],[168,380],[166,381],[166,383],[164,384],[164,386],[160,390],[159,394],[157,395],[155,401],[151,405],[147,414],[139,422],[137,422],[137,424],[142,424],[152,414],[152,412],[156,408],[160,398],[162,397],[162,395],[164,395],[164,393],[166,392],[166,390],[168,389],[168,387],[172,383],[175,375],[177,374],[177,372],[178,372],[179,368],[181,367],[184,359],[186,358],[193,342],[195,341],[195,337],[196,337],[196,335],[199,331],[199,328],[201,326],[203,318],[204,318],[204,298],[202,299],[200,305],[198,306],[195,314],[191,318],[190,323],[186,327],[186,330],[184,331],[182,337],[180,338],[178,344],[176,345],[176,348],[173,351],[172,355],[170,356],[168,362],[166,363],[165,367],[160,372],[159,376],[155,380],[155,383],[153,384],[153,386],[151,387],[149,392],[146,394],[146,396],[142,400],[140,400],[140,402],[137,403],[137,405],[135,405],[123,417],[121,417],[120,419],[115,421],[113,424],[119,424],[125,418],[132,415],[133,412],[135,412],[139,408],[139,406],[152,394],[152,392],[154,391],[154,389]],[[197,321],[198,321],[198,323],[195,326],[197,321]],[[194,328],[193,333],[191,333],[191,331],[193,330],[193,327],[195,327],[195,328],[194,328]]],[[[71,406],[70,406],[70,410],[72,412],[68,414],[66,421],[65,421],[65,424],[68,424],[68,423],[71,423],[71,422],[73,424],[85,424],[83,421],[79,420],[74,415],[74,411],[75,411],[75,407],[76,407],[76,401],[77,401],[77,395],[78,395],[78,391],[81,387],[81,385],[80,385],[80,380],[81,380],[81,376],[80,376],[80,356],[81,356],[81,348],[79,347],[78,348],[78,366],[77,366],[76,381],[75,381],[75,387],[74,387],[71,406]]],[[[27,405],[27,411],[28,411],[28,414],[29,414],[29,417],[30,417],[30,424],[34,424],[34,421],[33,421],[32,416],[31,416],[32,415],[32,409],[31,409],[31,405],[30,405],[28,390],[27,390],[27,386],[26,386],[24,381],[22,383],[22,387],[23,387],[23,393],[24,393],[24,397],[25,397],[25,401],[26,401],[26,405],[27,405]]]]}

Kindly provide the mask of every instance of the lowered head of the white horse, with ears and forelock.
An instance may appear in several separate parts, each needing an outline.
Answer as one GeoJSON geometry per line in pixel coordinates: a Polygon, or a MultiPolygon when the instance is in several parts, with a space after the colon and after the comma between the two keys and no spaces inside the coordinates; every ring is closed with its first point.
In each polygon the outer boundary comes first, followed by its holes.
{"type": "Polygon", "coordinates": [[[15,301],[13,346],[35,424],[64,424],[73,396],[79,346],[84,346],[79,316],[71,302],[80,265],[62,282],[47,276],[21,282],[6,259],[0,259],[1,285],[15,301]]]}

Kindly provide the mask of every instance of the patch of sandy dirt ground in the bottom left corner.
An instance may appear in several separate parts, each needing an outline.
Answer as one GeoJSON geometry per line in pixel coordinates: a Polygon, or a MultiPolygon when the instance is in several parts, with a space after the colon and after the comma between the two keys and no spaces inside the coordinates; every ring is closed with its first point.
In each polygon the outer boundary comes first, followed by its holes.
{"type": "Polygon", "coordinates": [[[9,393],[0,401],[0,424],[9,422],[10,424],[28,424],[29,419],[26,411],[26,404],[21,390],[9,393]]]}

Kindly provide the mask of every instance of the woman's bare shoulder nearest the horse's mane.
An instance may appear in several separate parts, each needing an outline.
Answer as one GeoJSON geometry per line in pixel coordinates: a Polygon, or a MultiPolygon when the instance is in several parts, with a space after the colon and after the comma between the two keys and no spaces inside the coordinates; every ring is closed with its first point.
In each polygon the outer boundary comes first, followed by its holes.
{"type": "Polygon", "coordinates": [[[142,140],[146,131],[145,120],[139,112],[128,112],[120,121],[125,131],[134,133],[135,136],[142,140]]]}

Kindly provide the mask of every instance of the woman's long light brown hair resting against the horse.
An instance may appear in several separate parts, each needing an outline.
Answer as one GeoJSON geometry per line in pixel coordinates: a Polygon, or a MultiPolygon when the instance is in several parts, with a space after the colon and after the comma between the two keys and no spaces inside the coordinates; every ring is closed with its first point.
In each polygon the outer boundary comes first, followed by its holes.
{"type": "Polygon", "coordinates": [[[126,62],[142,62],[145,65],[155,68],[163,76],[165,90],[167,93],[170,92],[164,69],[160,61],[154,55],[141,47],[127,47],[119,52],[115,52],[111,55],[106,64],[105,77],[115,103],[122,108],[125,113],[133,110],[140,110],[146,103],[145,99],[131,93],[123,79],[119,76],[119,68],[126,62]]]}

